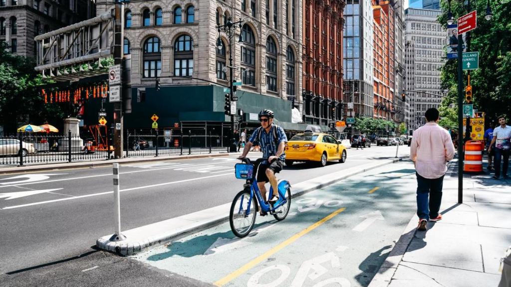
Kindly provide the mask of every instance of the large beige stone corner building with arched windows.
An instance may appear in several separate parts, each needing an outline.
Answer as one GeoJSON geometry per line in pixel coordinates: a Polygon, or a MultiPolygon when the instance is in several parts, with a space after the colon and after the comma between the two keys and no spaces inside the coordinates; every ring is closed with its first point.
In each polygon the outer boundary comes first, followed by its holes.
{"type": "MultiPolygon", "coordinates": [[[[124,52],[131,55],[133,105],[156,97],[166,101],[187,101],[199,87],[210,86],[207,110],[190,108],[179,114],[160,112],[168,121],[228,121],[224,115],[223,86],[229,79],[229,39],[218,31],[230,19],[242,20],[231,39],[233,78],[242,81],[238,108],[246,114],[261,108],[280,109],[276,118],[291,123],[291,101],[301,107],[301,0],[157,0],[130,1],[124,8],[124,52]],[[240,34],[242,41],[239,42],[240,34]],[[218,49],[220,38],[222,49],[218,49]],[[176,76],[190,78],[173,78],[176,76]],[[154,90],[160,78],[161,90],[154,90]],[[180,91],[186,94],[177,95],[180,91]],[[290,98],[292,99],[292,98],[290,98]],[[275,107],[285,107],[278,108],[275,107]]],[[[97,2],[97,13],[113,7],[97,2]]],[[[204,89],[201,89],[201,91],[204,89]]],[[[136,108],[134,108],[136,110],[136,108]]],[[[245,122],[257,122],[246,116],[245,122]]],[[[167,124],[164,123],[164,127],[167,124]]]]}

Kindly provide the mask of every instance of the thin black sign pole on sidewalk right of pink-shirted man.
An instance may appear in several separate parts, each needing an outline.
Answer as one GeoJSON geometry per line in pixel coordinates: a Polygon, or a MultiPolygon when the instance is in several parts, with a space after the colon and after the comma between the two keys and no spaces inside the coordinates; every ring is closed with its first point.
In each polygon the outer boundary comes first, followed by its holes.
{"type": "MultiPolygon", "coordinates": [[[[458,43],[463,41],[458,33],[458,43]]],[[[458,46],[458,203],[463,203],[463,48],[458,46]]]]}

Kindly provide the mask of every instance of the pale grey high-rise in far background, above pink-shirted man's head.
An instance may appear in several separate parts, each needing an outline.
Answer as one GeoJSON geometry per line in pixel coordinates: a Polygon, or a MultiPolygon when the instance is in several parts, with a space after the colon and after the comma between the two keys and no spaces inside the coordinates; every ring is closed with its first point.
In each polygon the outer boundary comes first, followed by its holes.
{"type": "Polygon", "coordinates": [[[438,108],[441,97],[421,91],[442,94],[440,68],[445,64],[447,32],[437,22],[439,10],[405,10],[405,65],[407,101],[410,106],[409,130],[426,123],[424,113],[428,108],[438,108]]]}

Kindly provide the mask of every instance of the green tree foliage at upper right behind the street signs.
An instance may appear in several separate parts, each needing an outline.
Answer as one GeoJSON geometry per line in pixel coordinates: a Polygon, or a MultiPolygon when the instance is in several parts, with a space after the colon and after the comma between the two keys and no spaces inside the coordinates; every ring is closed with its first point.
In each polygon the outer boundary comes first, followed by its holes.
{"type": "MultiPolygon", "coordinates": [[[[490,1],[492,20],[484,19],[486,0],[472,0],[470,11],[477,10],[477,28],[470,32],[470,49],[479,51],[479,69],[472,70],[474,109],[486,112],[490,119],[497,115],[509,115],[511,109],[511,2],[490,1]]],[[[466,2],[452,1],[454,18],[467,14],[466,2]],[[465,5],[464,5],[465,4],[465,5]]],[[[438,21],[447,27],[448,2],[442,2],[442,11],[438,21]]],[[[467,71],[464,71],[463,87],[467,85],[467,71]]],[[[457,98],[457,60],[451,59],[442,68],[442,86],[449,89],[448,96],[457,98]]],[[[457,109],[449,108],[452,101],[445,99],[441,110],[440,123],[457,126],[457,109]]]]}

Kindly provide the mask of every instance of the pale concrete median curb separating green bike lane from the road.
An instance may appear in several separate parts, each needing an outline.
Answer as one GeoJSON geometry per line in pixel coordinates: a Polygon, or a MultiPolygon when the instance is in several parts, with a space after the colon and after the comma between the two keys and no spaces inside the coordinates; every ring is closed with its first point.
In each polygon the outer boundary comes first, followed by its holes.
{"type": "MultiPolygon", "coordinates": [[[[385,162],[376,164],[374,166],[370,166],[365,169],[356,170],[352,173],[348,173],[343,176],[334,177],[332,179],[329,179],[329,180],[321,182],[321,183],[312,183],[310,186],[306,186],[302,189],[299,189],[297,192],[293,193],[291,195],[291,198],[296,198],[296,197],[305,195],[305,194],[310,193],[316,189],[326,187],[326,186],[331,185],[331,184],[338,182],[340,180],[354,176],[358,173],[363,173],[363,172],[367,172],[370,170],[374,170],[374,169],[379,168],[380,166],[387,165],[389,163],[396,163],[396,162],[402,161],[405,158],[407,158],[407,157],[400,157],[397,159],[387,160],[385,162]]],[[[326,176],[331,176],[331,175],[332,174],[329,174],[326,176]]],[[[96,246],[104,251],[109,251],[109,252],[115,253],[120,256],[130,256],[130,255],[134,255],[136,253],[145,252],[151,248],[164,245],[168,242],[178,240],[179,238],[188,236],[192,233],[199,232],[199,231],[205,230],[207,228],[211,228],[211,227],[214,227],[221,223],[227,222],[229,219],[230,205],[231,205],[231,203],[229,202],[229,203],[226,203],[223,205],[219,205],[216,207],[202,210],[202,211],[218,210],[218,211],[222,212],[220,216],[217,215],[217,216],[213,216],[213,217],[208,217],[206,220],[202,220],[202,221],[193,221],[191,219],[188,219],[187,217],[190,217],[190,214],[185,214],[184,216],[174,218],[174,219],[180,220],[180,221],[188,221],[191,224],[180,226],[178,228],[175,228],[174,230],[169,230],[168,232],[164,231],[164,232],[158,234],[158,236],[149,237],[143,241],[130,242],[130,243],[112,242],[109,240],[112,234],[109,234],[109,235],[98,238],[98,240],[96,241],[96,246]]],[[[197,211],[197,212],[194,212],[191,214],[196,214],[196,213],[202,212],[202,211],[197,211]]],[[[168,221],[171,221],[171,220],[173,220],[173,219],[170,219],[168,221]]],[[[126,235],[126,234],[124,234],[124,235],[126,235]]],[[[405,250],[406,250],[406,248],[405,248],[405,250]]]]}

